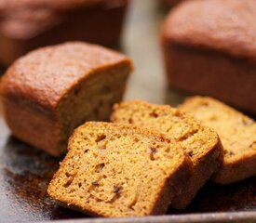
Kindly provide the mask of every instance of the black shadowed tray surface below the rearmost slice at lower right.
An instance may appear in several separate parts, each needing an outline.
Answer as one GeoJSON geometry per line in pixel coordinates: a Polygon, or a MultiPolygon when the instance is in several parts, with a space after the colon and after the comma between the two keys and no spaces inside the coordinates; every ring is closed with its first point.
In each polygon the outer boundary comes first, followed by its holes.
{"type": "Polygon", "coordinates": [[[232,185],[207,183],[196,194],[194,201],[182,211],[169,209],[169,214],[255,211],[256,177],[232,185]]]}

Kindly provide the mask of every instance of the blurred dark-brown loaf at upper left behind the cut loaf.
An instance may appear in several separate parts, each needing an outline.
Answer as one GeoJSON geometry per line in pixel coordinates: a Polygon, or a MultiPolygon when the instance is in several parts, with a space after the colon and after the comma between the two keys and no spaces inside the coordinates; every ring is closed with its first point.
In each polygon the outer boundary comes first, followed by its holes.
{"type": "Polygon", "coordinates": [[[65,41],[116,45],[128,0],[1,0],[0,63],[65,41]]]}

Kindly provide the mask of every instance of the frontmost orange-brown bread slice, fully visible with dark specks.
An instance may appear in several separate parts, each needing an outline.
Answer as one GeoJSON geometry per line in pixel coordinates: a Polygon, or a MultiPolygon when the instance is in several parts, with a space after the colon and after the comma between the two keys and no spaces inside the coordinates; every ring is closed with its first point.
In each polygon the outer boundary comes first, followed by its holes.
{"type": "Polygon", "coordinates": [[[164,214],[192,172],[177,143],[133,125],[86,123],[68,147],[47,192],[88,215],[164,214]]]}

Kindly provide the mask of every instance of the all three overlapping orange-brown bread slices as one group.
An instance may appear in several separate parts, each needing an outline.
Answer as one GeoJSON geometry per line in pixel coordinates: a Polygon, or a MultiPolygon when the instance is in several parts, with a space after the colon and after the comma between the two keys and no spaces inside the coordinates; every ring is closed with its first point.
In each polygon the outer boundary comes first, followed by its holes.
{"type": "Polygon", "coordinates": [[[256,176],[255,122],[215,99],[188,98],[179,109],[131,100],[115,105],[111,121],[74,131],[47,190],[61,205],[93,216],[161,215],[186,207],[209,178],[256,176]]]}

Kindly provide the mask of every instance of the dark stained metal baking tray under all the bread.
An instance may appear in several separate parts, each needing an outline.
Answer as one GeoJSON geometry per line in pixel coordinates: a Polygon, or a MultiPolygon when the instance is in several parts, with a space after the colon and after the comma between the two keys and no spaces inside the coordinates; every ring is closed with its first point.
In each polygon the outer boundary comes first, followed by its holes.
{"type": "MultiPolygon", "coordinates": [[[[167,89],[158,33],[165,12],[155,0],[133,0],[122,51],[135,62],[127,98],[176,105],[184,95],[167,89]]],[[[230,186],[205,185],[186,210],[166,216],[92,218],[58,206],[47,196],[47,184],[61,161],[9,135],[0,119],[0,222],[256,222],[256,178],[230,186]],[[77,221],[74,220],[76,218],[77,221]]]]}

